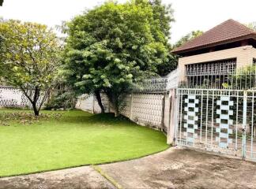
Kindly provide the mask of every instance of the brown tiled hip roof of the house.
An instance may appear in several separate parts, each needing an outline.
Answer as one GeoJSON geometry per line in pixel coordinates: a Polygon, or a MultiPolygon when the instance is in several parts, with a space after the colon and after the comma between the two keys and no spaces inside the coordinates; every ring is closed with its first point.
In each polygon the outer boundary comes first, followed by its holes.
{"type": "Polygon", "coordinates": [[[206,31],[195,39],[184,43],[172,52],[185,53],[191,50],[199,50],[205,47],[216,46],[224,43],[232,43],[242,39],[256,39],[256,32],[235,20],[227,20],[216,27],[206,31]]]}

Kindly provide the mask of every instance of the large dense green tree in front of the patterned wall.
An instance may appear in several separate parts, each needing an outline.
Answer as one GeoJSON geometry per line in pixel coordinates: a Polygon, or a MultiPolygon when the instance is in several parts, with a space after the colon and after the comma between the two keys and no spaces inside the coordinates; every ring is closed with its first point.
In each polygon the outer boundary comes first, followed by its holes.
{"type": "Polygon", "coordinates": [[[148,1],[106,2],[67,26],[67,80],[77,91],[104,91],[116,116],[122,94],[168,60],[167,37],[148,1]]]}

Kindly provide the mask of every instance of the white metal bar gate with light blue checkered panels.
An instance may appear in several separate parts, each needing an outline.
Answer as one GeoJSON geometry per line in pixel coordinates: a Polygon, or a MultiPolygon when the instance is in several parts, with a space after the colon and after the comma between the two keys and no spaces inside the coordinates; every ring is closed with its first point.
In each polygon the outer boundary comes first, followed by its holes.
{"type": "Polygon", "coordinates": [[[178,89],[178,145],[256,161],[256,91],[178,89]]]}

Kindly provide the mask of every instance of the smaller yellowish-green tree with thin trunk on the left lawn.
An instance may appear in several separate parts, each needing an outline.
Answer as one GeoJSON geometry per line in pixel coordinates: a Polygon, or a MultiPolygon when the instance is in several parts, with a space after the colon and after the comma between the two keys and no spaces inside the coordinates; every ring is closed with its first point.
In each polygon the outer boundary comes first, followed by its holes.
{"type": "Polygon", "coordinates": [[[19,87],[39,116],[43,102],[55,86],[60,44],[46,25],[19,20],[2,20],[0,72],[13,87],[19,87]]]}

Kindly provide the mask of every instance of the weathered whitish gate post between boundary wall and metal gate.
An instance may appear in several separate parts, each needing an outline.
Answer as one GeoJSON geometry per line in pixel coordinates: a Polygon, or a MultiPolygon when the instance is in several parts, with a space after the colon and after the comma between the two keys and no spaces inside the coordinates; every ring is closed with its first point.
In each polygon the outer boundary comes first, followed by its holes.
{"type": "Polygon", "coordinates": [[[170,117],[169,117],[169,125],[168,125],[168,144],[174,142],[175,138],[175,105],[176,105],[176,97],[175,97],[175,89],[171,89],[169,93],[170,98],[170,117]]]}

